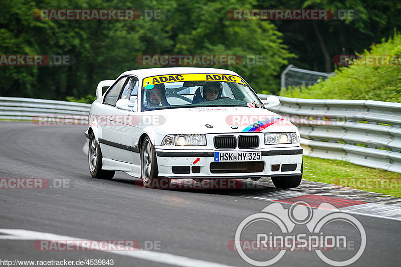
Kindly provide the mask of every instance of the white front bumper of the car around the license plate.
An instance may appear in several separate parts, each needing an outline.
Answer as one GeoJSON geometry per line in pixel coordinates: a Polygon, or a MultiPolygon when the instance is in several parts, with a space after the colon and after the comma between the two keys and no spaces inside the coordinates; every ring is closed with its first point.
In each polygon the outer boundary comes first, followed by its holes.
{"type": "MultiPolygon", "coordinates": [[[[302,166],[302,147],[281,147],[281,148],[270,148],[270,149],[258,149],[252,152],[261,151],[262,158],[258,171],[252,171],[254,164],[252,162],[236,162],[227,164],[231,167],[233,165],[248,166],[246,172],[231,171],[228,173],[216,173],[211,171],[211,163],[215,162],[215,152],[225,152],[224,150],[214,149],[195,149],[195,150],[171,150],[163,149],[164,147],[156,147],[157,165],[159,171],[159,177],[166,178],[258,178],[258,177],[277,177],[277,176],[292,176],[301,174],[302,166]],[[263,166],[261,166],[263,162],[263,166]],[[248,165],[247,165],[248,164],[248,165]],[[273,171],[272,165],[279,165],[278,170],[273,171]],[[290,166],[290,168],[288,167],[290,166]],[[173,167],[181,167],[186,173],[175,173],[173,167]],[[189,173],[188,173],[189,167],[189,173]],[[192,168],[192,167],[200,167],[192,168]],[[193,172],[193,170],[195,170],[193,172]],[[290,169],[290,170],[288,170],[290,169]]],[[[251,150],[249,150],[251,151],[251,150]]],[[[243,152],[243,151],[230,151],[230,152],[243,152]]],[[[214,163],[215,164],[215,163],[214,163]]],[[[225,164],[223,164],[225,165],[225,164]]],[[[176,169],[175,169],[176,170],[176,169]]]]}

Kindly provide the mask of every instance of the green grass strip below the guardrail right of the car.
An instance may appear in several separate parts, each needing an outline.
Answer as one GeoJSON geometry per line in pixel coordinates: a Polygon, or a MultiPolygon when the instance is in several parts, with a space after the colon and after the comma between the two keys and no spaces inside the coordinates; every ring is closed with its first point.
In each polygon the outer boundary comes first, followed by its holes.
{"type": "Polygon", "coordinates": [[[304,156],[303,161],[303,179],[305,180],[401,197],[401,173],[333,159],[304,156]],[[367,185],[365,185],[366,182],[367,185]]]}

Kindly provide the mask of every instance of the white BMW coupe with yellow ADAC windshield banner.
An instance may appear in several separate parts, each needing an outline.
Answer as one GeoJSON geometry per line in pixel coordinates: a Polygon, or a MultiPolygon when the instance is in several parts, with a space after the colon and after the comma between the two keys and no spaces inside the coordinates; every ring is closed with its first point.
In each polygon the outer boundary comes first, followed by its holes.
{"type": "Polygon", "coordinates": [[[298,129],[269,111],[237,73],[213,68],[127,71],[101,81],[85,132],[89,170],[158,179],[271,177],[278,188],[302,179],[298,129]],[[108,87],[102,94],[102,88],[108,87]]]}

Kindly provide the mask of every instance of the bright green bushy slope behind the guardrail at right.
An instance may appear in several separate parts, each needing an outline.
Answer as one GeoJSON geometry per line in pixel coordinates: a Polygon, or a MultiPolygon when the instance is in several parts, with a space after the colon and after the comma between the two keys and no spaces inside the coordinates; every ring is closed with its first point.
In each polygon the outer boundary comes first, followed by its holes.
{"type": "MultiPolygon", "coordinates": [[[[363,55],[401,55],[401,35],[372,45],[363,55]]],[[[311,99],[372,99],[401,102],[401,66],[372,66],[355,62],[333,77],[310,87],[282,89],[281,96],[311,99]]]]}

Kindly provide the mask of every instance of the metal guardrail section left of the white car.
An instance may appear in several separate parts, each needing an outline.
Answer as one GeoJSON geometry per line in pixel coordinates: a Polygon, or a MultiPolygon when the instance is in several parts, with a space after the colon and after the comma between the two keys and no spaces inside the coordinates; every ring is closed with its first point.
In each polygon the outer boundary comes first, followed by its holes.
{"type": "Polygon", "coordinates": [[[88,121],[90,104],[34,98],[0,97],[0,119],[35,120],[39,116],[76,115],[74,120],[88,121]],[[86,118],[85,118],[86,116],[86,118]]]}

